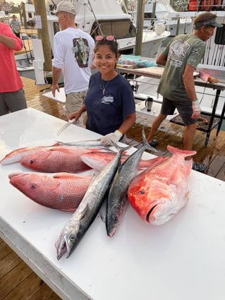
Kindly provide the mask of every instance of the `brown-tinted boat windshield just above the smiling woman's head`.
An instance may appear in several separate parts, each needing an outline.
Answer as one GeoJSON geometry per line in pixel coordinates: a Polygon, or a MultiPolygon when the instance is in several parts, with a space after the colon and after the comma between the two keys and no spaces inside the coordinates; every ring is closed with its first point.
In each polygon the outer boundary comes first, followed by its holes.
{"type": "Polygon", "coordinates": [[[92,37],[96,35],[114,35],[116,40],[124,39],[127,37],[135,37],[136,31],[131,20],[99,20],[98,24],[95,22],[91,30],[92,37]],[[102,30],[99,30],[99,27],[102,30]]]}

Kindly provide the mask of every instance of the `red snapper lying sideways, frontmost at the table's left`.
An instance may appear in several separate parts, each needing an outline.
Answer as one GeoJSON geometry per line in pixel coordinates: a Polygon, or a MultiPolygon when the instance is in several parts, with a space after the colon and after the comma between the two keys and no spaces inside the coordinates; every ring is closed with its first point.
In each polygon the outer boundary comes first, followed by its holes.
{"type": "Polygon", "coordinates": [[[83,199],[92,176],[70,173],[11,173],[10,184],[36,203],[58,210],[75,211],[83,199]]]}

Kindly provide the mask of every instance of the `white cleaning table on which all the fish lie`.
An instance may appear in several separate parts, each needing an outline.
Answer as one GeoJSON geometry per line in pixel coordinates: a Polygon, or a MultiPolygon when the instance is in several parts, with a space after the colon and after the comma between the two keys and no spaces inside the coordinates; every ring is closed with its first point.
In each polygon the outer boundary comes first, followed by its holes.
{"type": "MultiPolygon", "coordinates": [[[[59,140],[63,124],[35,109],[1,116],[1,157],[59,140]]],[[[98,137],[73,125],[60,140],[98,137]]],[[[72,213],[38,205],[11,186],[8,174],[20,171],[30,172],[0,165],[0,234],[62,299],[225,299],[224,181],[192,171],[188,204],[160,226],[145,224],[129,206],[109,238],[98,215],[71,256],[58,261],[54,243],[72,213]]]]}

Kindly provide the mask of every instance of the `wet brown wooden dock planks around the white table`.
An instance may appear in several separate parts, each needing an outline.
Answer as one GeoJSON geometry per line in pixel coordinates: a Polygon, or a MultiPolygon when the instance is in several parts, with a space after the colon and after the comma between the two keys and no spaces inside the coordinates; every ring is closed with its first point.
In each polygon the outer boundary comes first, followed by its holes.
{"type": "MultiPolygon", "coordinates": [[[[51,89],[50,84],[37,86],[35,81],[22,78],[28,107],[38,109],[47,114],[66,120],[63,104],[48,99],[42,95],[51,89]]],[[[128,144],[139,146],[142,127],[146,134],[150,131],[152,118],[137,115],[136,123],[127,133],[128,144]]],[[[154,138],[159,140],[156,155],[168,155],[166,146],[173,145],[182,148],[183,126],[164,121],[154,138]]],[[[207,164],[209,176],[225,181],[225,131],[220,131],[216,137],[213,129],[205,148],[205,133],[197,131],[194,140],[195,160],[207,164]]],[[[10,247],[0,239],[0,300],[59,300],[57,296],[39,277],[30,270],[10,247]]]]}

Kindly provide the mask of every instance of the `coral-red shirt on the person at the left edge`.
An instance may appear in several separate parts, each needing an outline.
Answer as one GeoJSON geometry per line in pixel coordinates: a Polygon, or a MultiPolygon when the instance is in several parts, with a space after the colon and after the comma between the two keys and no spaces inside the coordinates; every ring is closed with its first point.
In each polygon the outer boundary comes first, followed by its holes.
{"type": "Polygon", "coordinates": [[[23,88],[23,83],[16,68],[14,50],[20,51],[23,43],[5,23],[0,23],[0,34],[13,37],[16,42],[14,49],[0,42],[0,92],[16,92],[23,88]]]}

